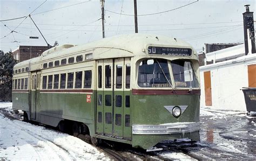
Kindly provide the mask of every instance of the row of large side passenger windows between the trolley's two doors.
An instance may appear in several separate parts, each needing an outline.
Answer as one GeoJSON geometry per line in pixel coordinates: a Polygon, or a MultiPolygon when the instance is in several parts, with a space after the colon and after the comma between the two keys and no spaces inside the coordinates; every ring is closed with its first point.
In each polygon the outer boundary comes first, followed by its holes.
{"type": "Polygon", "coordinates": [[[92,71],[79,71],[43,76],[43,89],[91,88],[92,71]],[[84,76],[83,76],[84,75],[84,76]],[[75,86],[74,86],[75,82],[75,86]],[[83,83],[84,82],[84,83],[83,83]]]}

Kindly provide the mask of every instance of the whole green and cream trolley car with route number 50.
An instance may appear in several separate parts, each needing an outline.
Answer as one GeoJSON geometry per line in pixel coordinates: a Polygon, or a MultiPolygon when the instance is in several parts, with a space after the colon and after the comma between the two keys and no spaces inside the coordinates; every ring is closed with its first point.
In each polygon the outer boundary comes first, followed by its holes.
{"type": "Polygon", "coordinates": [[[149,149],[199,141],[198,55],[182,40],[127,34],[62,45],[14,67],[14,111],[74,135],[149,149]]]}

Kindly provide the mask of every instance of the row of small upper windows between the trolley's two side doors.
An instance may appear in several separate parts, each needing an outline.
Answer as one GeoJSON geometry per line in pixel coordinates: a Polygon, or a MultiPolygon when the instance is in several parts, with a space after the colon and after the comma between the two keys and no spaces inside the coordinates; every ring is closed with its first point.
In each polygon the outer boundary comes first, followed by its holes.
{"type": "MultiPolygon", "coordinates": [[[[92,59],[92,53],[90,53],[90,54],[85,54],[85,60],[90,60],[90,59],[92,59]]],[[[76,57],[76,62],[81,62],[81,61],[83,61],[84,59],[83,59],[83,55],[78,55],[77,57],[76,57]]],[[[68,59],[68,64],[73,64],[75,62],[75,57],[70,57],[69,59],[68,59]]],[[[66,58],[65,59],[62,59],[62,60],[60,60],[60,63],[59,63],[59,60],[56,60],[56,61],[54,61],[54,66],[55,67],[57,67],[57,66],[59,66],[59,65],[66,65],[67,64],[67,62],[66,62],[66,58]]],[[[51,62],[45,62],[44,64],[43,64],[43,68],[45,69],[45,68],[51,68],[51,67],[53,67],[53,61],[51,61],[51,62]]]]}

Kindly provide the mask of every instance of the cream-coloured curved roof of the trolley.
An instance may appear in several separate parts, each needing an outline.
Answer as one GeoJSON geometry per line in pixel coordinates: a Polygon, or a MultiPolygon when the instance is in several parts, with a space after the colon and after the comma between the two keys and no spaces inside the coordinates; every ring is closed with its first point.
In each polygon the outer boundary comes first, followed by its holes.
{"type": "Polygon", "coordinates": [[[72,53],[92,50],[94,50],[91,52],[93,53],[93,59],[134,57],[136,55],[143,56],[147,55],[145,51],[147,51],[146,47],[149,45],[192,48],[190,44],[177,38],[159,36],[156,34],[123,34],[110,38],[104,38],[84,45],[66,44],[52,47],[49,50],[44,51],[40,57],[19,62],[17,65],[15,65],[15,68],[35,64],[37,62],[46,61],[53,58],[63,57],[65,55],[68,56],[72,53]],[[117,53],[117,50],[124,52],[117,53]]]}

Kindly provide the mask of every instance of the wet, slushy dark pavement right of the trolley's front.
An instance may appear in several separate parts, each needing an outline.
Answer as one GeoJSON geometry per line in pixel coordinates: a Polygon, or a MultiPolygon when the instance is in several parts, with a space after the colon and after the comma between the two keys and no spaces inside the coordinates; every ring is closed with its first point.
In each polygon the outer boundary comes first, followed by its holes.
{"type": "Polygon", "coordinates": [[[200,110],[200,139],[189,153],[203,159],[254,160],[256,158],[256,116],[231,110],[200,110]]]}

